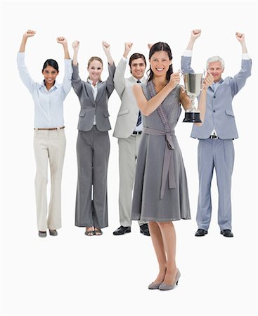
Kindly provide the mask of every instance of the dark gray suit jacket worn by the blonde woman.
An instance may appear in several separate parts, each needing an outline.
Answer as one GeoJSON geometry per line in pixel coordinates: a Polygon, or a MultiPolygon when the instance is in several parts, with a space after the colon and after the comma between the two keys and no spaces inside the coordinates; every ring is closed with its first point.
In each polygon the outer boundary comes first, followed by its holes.
{"type": "Polygon", "coordinates": [[[96,128],[98,131],[111,129],[108,119],[108,98],[114,90],[115,64],[108,65],[109,76],[106,81],[98,82],[98,94],[96,100],[93,98],[93,91],[89,82],[82,81],[79,77],[78,66],[72,65],[72,87],[75,90],[81,104],[79,112],[79,131],[90,131],[93,126],[94,115],[96,115],[96,128]]]}

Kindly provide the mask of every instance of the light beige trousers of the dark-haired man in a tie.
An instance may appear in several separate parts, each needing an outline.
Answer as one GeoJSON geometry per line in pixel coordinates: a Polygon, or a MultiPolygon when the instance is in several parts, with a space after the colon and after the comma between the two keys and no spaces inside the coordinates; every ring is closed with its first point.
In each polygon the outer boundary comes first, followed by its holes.
{"type": "MultiPolygon", "coordinates": [[[[119,211],[120,225],[131,226],[131,199],[134,189],[136,159],[141,143],[141,135],[131,135],[129,138],[119,138],[119,211]]],[[[138,220],[139,225],[146,222],[138,220]]]]}

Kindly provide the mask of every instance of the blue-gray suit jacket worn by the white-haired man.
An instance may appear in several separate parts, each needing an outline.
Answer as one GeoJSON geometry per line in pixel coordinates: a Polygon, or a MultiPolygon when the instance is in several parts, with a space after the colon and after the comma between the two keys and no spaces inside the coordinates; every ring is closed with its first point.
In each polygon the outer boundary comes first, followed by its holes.
{"type": "MultiPolygon", "coordinates": [[[[251,75],[252,60],[242,60],[240,72],[233,78],[226,77],[219,81],[219,86],[214,92],[209,86],[207,89],[207,101],[205,121],[202,126],[195,126],[191,137],[206,139],[215,128],[217,136],[221,139],[238,138],[235,115],[232,109],[232,100],[238,91],[245,85],[246,79],[251,75]]],[[[181,70],[186,73],[193,73],[191,68],[191,57],[181,57],[181,70]]]]}

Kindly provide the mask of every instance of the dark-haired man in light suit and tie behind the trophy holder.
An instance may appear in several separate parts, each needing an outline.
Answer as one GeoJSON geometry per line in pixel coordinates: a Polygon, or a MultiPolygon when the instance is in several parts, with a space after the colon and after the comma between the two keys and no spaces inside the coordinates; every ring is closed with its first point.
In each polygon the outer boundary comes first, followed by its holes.
{"type": "MultiPolygon", "coordinates": [[[[117,228],[114,235],[124,235],[131,232],[131,198],[134,187],[136,171],[136,159],[138,147],[141,141],[143,124],[141,112],[138,110],[132,86],[136,83],[145,83],[146,59],[143,54],[134,53],[129,59],[131,77],[124,78],[127,66],[127,56],[131,51],[132,43],[124,44],[124,55],[115,70],[115,90],[121,99],[120,110],[117,114],[117,121],[113,136],[118,138],[119,146],[119,171],[120,171],[120,228],[117,228]]],[[[140,232],[143,235],[150,235],[148,223],[140,222],[140,232]]]]}

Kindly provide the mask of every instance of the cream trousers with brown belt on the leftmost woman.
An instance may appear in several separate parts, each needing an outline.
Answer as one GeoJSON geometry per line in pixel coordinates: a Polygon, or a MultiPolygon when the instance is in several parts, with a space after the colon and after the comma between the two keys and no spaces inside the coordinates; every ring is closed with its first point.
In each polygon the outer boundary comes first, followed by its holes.
{"type": "Polygon", "coordinates": [[[65,130],[34,130],[34,155],[36,159],[35,193],[38,230],[56,230],[61,227],[61,180],[65,158],[65,130]],[[48,165],[51,172],[51,197],[47,211],[46,185],[48,165]]]}

